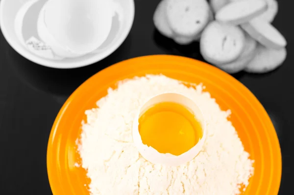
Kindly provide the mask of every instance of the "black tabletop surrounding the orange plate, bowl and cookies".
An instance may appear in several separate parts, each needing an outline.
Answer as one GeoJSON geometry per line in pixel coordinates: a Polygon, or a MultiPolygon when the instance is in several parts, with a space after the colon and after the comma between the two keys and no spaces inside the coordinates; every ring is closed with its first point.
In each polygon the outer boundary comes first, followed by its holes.
{"type": "MultiPolygon", "coordinates": [[[[123,45],[93,65],[58,70],[35,64],[16,53],[0,34],[0,194],[52,195],[46,152],[53,121],[68,96],[87,78],[124,59],[153,54],[202,60],[197,43],[178,46],[160,35],[152,22],[159,0],[135,0],[135,20],[123,45]]],[[[294,28],[293,0],[279,0],[273,22],[288,41],[288,57],[268,74],[238,73],[268,111],[283,158],[279,195],[293,194],[294,160],[294,28]]]]}

